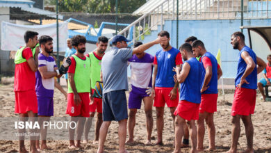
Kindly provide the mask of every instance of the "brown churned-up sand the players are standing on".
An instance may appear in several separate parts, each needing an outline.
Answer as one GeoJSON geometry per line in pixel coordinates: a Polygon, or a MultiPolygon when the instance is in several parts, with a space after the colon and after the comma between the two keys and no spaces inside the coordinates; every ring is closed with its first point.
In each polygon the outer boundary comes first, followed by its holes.
{"type": "MultiPolygon", "coordinates": [[[[67,90],[65,88],[65,90],[67,90]]],[[[127,94],[128,96],[128,94],[127,94]]],[[[224,152],[229,150],[231,144],[231,102],[233,94],[219,95],[217,102],[217,113],[215,113],[215,127],[216,127],[216,146],[217,151],[224,152]]],[[[0,117],[18,116],[14,113],[15,95],[13,92],[13,84],[0,84],[0,117]]],[[[54,115],[67,116],[65,114],[66,100],[64,96],[55,90],[54,95],[54,115]]],[[[144,104],[142,104],[143,108],[144,104]]],[[[154,129],[151,143],[156,142],[156,112],[153,108],[154,115],[154,129]]],[[[145,112],[143,109],[138,111],[136,115],[135,138],[137,144],[126,145],[126,150],[129,152],[172,152],[174,150],[174,131],[172,126],[172,117],[170,116],[170,109],[165,108],[165,127],[163,131],[163,146],[144,145],[146,139],[145,128],[145,112]]],[[[271,102],[261,102],[260,96],[257,96],[256,111],[252,116],[254,122],[254,150],[255,152],[270,152],[271,153],[271,102]]],[[[92,124],[93,127],[93,124],[92,124]]],[[[108,130],[108,136],[105,144],[106,152],[117,152],[118,150],[118,136],[117,136],[117,122],[112,122],[108,130]]],[[[128,131],[127,131],[128,132],[128,131]]],[[[128,134],[127,134],[128,138],[128,134]]],[[[67,149],[67,140],[49,140],[47,145],[53,150],[46,152],[97,152],[97,145],[92,142],[83,145],[83,149],[69,150],[67,149]]],[[[241,124],[241,134],[239,138],[238,150],[245,150],[247,146],[245,138],[245,127],[241,124]]],[[[205,134],[204,147],[208,147],[208,137],[205,134]]],[[[26,140],[26,148],[29,150],[29,141],[26,140]]],[[[183,152],[189,152],[189,148],[182,149],[183,152]]],[[[1,140],[0,138],[0,152],[18,152],[18,140],[1,140]]]]}

